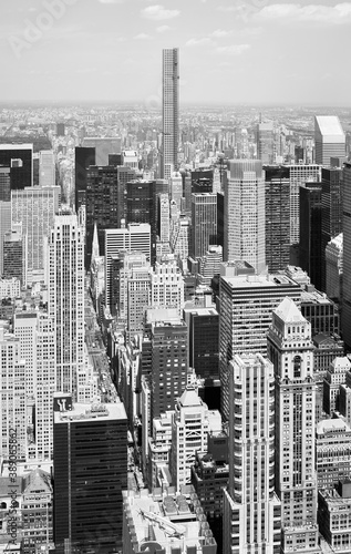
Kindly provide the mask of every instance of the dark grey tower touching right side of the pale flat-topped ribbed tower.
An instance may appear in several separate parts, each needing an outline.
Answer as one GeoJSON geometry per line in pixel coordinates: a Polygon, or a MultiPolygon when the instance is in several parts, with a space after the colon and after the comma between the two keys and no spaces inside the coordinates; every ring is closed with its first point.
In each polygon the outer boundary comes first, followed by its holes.
{"type": "Polygon", "coordinates": [[[285,269],[290,260],[289,168],[265,167],[266,263],[270,273],[285,269]]]}

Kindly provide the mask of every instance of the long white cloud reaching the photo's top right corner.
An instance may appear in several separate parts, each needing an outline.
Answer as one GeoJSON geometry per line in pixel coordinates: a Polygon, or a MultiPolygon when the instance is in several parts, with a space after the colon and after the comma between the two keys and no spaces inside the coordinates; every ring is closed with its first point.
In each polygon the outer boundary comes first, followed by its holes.
{"type": "Polygon", "coordinates": [[[265,20],[285,20],[286,22],[314,22],[327,24],[345,24],[351,22],[351,2],[335,6],[299,3],[276,3],[266,6],[257,12],[257,18],[265,20]]]}

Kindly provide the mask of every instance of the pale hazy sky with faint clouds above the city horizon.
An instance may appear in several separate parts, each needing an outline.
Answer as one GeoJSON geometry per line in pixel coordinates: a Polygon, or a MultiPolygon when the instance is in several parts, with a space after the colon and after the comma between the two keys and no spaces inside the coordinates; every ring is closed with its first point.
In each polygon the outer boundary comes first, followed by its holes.
{"type": "Polygon", "coordinates": [[[0,101],[157,109],[179,48],[180,105],[348,106],[350,45],[351,1],[2,0],[0,101]]]}

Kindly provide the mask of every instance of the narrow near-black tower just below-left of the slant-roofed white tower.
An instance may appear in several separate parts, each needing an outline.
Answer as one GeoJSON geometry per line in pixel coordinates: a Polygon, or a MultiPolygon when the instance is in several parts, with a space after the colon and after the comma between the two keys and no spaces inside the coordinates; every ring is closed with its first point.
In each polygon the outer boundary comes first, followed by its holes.
{"type": "Polygon", "coordinates": [[[322,187],[300,186],[300,266],[318,290],[322,286],[322,187]]]}

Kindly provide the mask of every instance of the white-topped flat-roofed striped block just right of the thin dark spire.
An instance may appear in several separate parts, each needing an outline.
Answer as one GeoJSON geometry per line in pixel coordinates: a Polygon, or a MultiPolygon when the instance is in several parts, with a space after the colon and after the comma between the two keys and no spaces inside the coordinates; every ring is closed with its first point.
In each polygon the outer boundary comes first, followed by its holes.
{"type": "Polygon", "coordinates": [[[151,226],[130,224],[127,227],[105,230],[105,302],[111,302],[111,270],[112,259],[122,250],[141,252],[146,259],[151,259],[151,226]]]}

